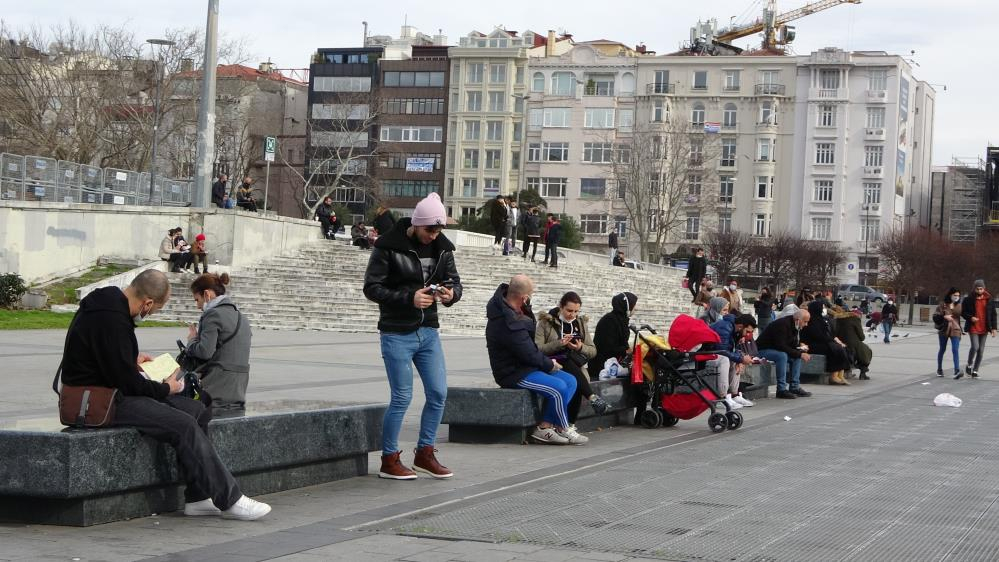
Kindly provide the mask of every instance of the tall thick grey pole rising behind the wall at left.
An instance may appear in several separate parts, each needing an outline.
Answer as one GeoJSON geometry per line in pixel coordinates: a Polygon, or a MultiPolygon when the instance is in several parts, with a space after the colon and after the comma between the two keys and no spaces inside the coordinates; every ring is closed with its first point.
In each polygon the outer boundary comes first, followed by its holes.
{"type": "Polygon", "coordinates": [[[208,0],[205,29],[205,64],[201,71],[198,105],[198,155],[195,161],[192,206],[208,208],[211,202],[212,162],[215,161],[215,70],[218,65],[219,0],[208,0]]]}

